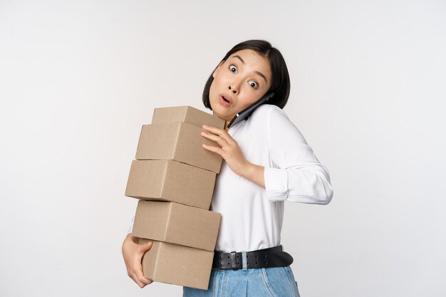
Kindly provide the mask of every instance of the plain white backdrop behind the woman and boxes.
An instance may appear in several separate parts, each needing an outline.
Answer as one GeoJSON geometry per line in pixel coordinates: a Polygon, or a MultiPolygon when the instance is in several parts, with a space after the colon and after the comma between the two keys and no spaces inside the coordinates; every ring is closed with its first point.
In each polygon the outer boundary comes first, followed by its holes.
{"type": "Polygon", "coordinates": [[[302,297],[446,296],[445,1],[0,0],[0,296],[181,296],[128,278],[124,196],[153,108],[204,110],[240,41],[279,48],[284,109],[331,172],[286,204],[302,297]]]}

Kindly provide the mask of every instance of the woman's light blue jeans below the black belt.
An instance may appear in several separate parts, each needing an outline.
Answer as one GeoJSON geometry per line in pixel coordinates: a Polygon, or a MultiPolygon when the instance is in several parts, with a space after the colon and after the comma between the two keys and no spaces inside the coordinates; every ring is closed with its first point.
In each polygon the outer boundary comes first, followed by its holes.
{"type": "Polygon", "coordinates": [[[299,297],[289,266],[247,270],[213,270],[209,288],[183,287],[183,297],[299,297]]]}

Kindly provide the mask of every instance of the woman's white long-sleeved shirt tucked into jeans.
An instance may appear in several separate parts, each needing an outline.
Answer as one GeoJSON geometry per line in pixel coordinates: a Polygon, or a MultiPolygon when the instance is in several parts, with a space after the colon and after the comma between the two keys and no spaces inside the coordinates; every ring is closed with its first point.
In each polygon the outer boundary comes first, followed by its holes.
{"type": "Polygon", "coordinates": [[[217,251],[254,251],[280,244],[284,202],[328,204],[330,175],[297,127],[275,105],[261,105],[229,129],[248,162],[264,166],[266,189],[223,161],[211,210],[222,214],[217,251]]]}

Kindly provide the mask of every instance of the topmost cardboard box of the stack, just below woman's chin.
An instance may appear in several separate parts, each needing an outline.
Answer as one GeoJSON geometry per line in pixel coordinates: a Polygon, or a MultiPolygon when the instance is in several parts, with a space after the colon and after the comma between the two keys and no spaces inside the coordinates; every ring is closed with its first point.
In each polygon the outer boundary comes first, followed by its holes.
{"type": "Polygon", "coordinates": [[[224,129],[224,120],[216,115],[204,113],[204,111],[191,106],[175,106],[172,108],[155,108],[153,111],[152,124],[165,123],[189,123],[197,127],[208,125],[224,129]]]}

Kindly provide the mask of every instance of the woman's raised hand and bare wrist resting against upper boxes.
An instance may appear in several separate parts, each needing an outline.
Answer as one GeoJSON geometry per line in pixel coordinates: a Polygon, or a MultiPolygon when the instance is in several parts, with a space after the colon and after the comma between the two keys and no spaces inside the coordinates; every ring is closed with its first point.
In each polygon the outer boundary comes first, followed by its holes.
{"type": "Polygon", "coordinates": [[[206,132],[202,132],[203,137],[213,140],[221,146],[214,147],[212,145],[203,144],[203,147],[206,150],[221,155],[235,174],[249,179],[260,187],[265,187],[264,167],[248,162],[244,157],[242,150],[240,150],[237,141],[235,141],[226,130],[206,125],[203,125],[203,129],[206,130],[206,132]]]}

